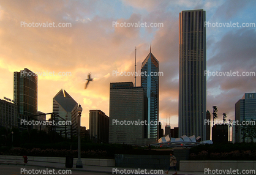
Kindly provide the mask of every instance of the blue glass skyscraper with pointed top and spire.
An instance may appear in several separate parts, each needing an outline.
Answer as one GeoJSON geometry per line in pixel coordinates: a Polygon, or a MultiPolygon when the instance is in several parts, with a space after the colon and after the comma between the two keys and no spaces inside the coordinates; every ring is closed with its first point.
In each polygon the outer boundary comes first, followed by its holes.
{"type": "Polygon", "coordinates": [[[151,53],[141,65],[141,86],[148,97],[148,122],[155,124],[148,125],[147,138],[157,139],[157,123],[159,119],[159,62],[151,53]]]}

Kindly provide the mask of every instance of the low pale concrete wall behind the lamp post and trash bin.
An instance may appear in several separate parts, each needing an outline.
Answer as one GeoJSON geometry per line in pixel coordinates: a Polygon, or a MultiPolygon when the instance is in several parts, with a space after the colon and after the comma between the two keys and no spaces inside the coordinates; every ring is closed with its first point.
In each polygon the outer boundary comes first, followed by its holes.
{"type": "MultiPolygon", "coordinates": [[[[22,156],[15,155],[0,155],[0,159],[19,160],[23,162],[22,156]]],[[[102,158],[81,158],[83,165],[94,165],[94,166],[115,166],[114,159],[102,159],[102,158]]],[[[53,162],[53,163],[65,163],[66,157],[33,157],[28,156],[29,161],[37,162],[53,162]]],[[[73,158],[73,165],[77,163],[77,158],[73,158]]]]}

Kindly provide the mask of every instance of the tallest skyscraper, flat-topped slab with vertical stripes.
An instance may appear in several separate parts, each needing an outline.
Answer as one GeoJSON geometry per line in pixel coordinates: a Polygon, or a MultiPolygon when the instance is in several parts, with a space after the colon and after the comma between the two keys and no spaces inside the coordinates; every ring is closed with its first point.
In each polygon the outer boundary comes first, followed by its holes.
{"type": "Polygon", "coordinates": [[[206,13],[179,13],[179,136],[206,140],[206,13]]]}

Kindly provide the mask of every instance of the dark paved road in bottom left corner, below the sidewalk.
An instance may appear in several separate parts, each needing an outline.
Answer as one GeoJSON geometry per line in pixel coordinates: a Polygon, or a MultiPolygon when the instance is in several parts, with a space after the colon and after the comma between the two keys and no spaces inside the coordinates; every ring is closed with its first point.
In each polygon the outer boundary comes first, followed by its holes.
{"type": "MultiPolygon", "coordinates": [[[[72,171],[73,175],[78,175],[78,174],[86,174],[86,175],[107,175],[105,173],[92,173],[92,172],[85,172],[85,171],[75,171],[73,169],[70,169],[72,171]]],[[[23,165],[5,165],[5,164],[1,164],[0,165],[0,174],[1,175],[18,175],[18,174],[24,174],[24,173],[28,173],[28,174],[40,174],[39,171],[41,171],[43,173],[47,173],[48,174],[53,174],[53,172],[55,174],[70,174],[69,173],[69,169],[53,169],[53,168],[42,168],[42,167],[36,167],[36,166],[23,166],[23,165]],[[33,171],[34,169],[34,171],[33,171]],[[23,172],[23,173],[21,173],[23,172]]]]}

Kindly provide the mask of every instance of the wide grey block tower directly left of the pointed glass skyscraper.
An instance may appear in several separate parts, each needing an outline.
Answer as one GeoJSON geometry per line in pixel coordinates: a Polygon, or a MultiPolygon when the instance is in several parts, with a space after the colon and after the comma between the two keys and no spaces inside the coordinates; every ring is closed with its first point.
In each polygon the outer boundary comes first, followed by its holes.
{"type": "Polygon", "coordinates": [[[142,87],[134,87],[132,82],[110,83],[109,143],[143,144],[147,104],[142,87]]]}

